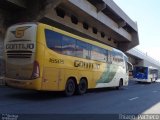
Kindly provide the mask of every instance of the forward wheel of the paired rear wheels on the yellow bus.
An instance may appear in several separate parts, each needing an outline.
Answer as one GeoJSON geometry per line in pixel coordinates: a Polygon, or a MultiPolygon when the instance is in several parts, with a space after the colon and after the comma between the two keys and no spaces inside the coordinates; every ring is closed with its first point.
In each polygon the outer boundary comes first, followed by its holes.
{"type": "Polygon", "coordinates": [[[77,94],[82,95],[85,94],[88,89],[87,80],[82,78],[77,86],[77,94]]]}

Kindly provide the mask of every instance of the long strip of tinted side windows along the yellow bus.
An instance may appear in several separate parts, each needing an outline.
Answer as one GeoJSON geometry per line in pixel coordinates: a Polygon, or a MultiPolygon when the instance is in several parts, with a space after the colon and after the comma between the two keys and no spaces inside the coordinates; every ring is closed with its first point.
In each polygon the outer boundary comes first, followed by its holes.
{"type": "Polygon", "coordinates": [[[110,52],[103,48],[47,29],[45,35],[47,47],[58,53],[102,62],[111,60],[110,52]]]}

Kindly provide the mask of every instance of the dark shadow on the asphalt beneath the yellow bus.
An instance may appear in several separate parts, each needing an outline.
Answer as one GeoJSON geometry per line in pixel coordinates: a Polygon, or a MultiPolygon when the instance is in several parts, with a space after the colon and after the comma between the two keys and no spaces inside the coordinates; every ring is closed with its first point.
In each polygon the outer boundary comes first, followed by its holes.
{"type": "MultiPolygon", "coordinates": [[[[110,93],[110,92],[120,92],[124,91],[125,87],[120,88],[117,90],[116,88],[96,88],[96,89],[89,89],[86,94],[98,94],[98,93],[110,93]]],[[[9,91],[5,94],[6,97],[11,99],[22,99],[22,100],[29,100],[29,101],[45,101],[45,100],[55,100],[55,99],[64,99],[64,98],[70,98],[66,97],[64,92],[54,92],[54,91],[33,91],[33,90],[23,90],[23,89],[17,89],[17,88],[10,88],[9,91]]],[[[75,94],[71,97],[80,97],[82,95],[75,94]]]]}

